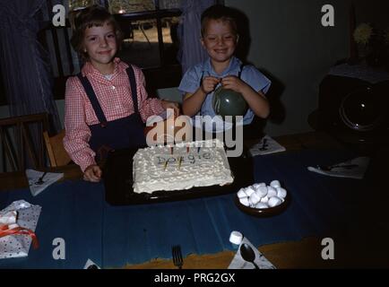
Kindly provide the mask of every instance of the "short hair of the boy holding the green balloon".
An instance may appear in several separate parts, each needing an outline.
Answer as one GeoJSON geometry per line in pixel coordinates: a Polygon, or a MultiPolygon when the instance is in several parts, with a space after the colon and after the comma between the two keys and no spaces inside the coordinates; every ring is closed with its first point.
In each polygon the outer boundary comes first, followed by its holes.
{"type": "Polygon", "coordinates": [[[201,17],[202,37],[204,36],[206,25],[210,20],[228,22],[232,32],[238,36],[237,20],[233,9],[221,4],[212,5],[211,7],[207,8],[202,13],[201,17]]]}

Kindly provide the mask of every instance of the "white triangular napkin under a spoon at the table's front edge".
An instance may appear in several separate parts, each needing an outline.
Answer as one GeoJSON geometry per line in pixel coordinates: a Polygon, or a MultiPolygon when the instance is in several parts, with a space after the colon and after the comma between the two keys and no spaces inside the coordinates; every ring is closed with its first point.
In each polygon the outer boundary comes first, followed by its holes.
{"type": "Polygon", "coordinates": [[[276,267],[274,265],[272,265],[272,263],[269,260],[267,260],[266,257],[264,257],[264,255],[261,252],[259,252],[258,249],[255,248],[248,239],[246,239],[246,237],[244,237],[242,239],[242,242],[239,245],[237,254],[235,255],[234,258],[232,258],[232,261],[229,264],[229,269],[255,269],[255,266],[251,262],[247,262],[240,255],[240,246],[243,243],[246,243],[251,248],[253,248],[254,253],[255,253],[254,262],[256,265],[258,265],[258,267],[260,269],[276,269],[276,267]]]}

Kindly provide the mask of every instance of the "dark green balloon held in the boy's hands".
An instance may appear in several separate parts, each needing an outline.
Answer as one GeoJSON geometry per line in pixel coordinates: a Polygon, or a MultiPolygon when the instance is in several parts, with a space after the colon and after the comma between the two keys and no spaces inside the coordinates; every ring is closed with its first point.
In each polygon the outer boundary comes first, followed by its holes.
{"type": "Polygon", "coordinates": [[[240,92],[224,89],[220,86],[213,93],[212,108],[216,115],[225,117],[245,116],[248,107],[240,92]]]}

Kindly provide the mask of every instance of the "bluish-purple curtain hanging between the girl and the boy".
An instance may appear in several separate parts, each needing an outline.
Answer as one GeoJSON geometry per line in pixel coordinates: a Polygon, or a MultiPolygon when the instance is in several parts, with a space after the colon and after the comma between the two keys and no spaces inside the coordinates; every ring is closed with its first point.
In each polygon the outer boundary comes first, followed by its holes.
{"type": "Polygon", "coordinates": [[[178,26],[180,50],[178,61],[182,65],[183,74],[193,65],[203,62],[208,56],[200,43],[201,14],[203,11],[216,4],[216,0],[182,0],[181,22],[178,26]]]}

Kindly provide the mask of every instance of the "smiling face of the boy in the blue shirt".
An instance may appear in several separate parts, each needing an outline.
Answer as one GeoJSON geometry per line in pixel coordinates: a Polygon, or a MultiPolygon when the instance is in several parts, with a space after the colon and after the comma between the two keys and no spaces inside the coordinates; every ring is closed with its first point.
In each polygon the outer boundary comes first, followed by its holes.
{"type": "Polygon", "coordinates": [[[213,65],[227,65],[237,47],[238,37],[231,30],[229,22],[210,19],[202,38],[203,48],[207,50],[213,65]]]}

